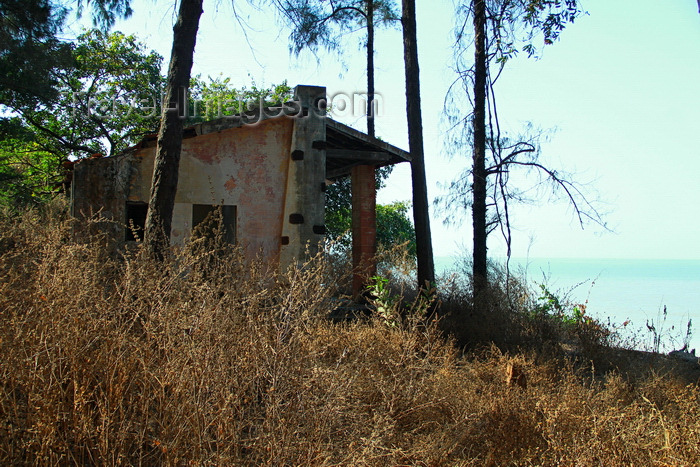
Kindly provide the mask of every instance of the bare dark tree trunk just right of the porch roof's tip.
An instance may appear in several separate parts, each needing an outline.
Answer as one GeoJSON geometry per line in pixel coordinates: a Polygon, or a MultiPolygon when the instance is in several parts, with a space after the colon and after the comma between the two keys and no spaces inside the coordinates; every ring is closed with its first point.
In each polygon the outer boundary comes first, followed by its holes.
{"type": "Polygon", "coordinates": [[[423,122],[420,104],[415,0],[402,0],[402,13],[403,56],[406,71],[406,117],[408,120],[408,145],[412,158],[413,222],[416,227],[418,287],[422,288],[426,287],[426,282],[429,284],[435,282],[435,266],[433,264],[433,245],[430,236],[430,217],[428,212],[428,187],[425,180],[425,159],[423,155],[423,122]]]}

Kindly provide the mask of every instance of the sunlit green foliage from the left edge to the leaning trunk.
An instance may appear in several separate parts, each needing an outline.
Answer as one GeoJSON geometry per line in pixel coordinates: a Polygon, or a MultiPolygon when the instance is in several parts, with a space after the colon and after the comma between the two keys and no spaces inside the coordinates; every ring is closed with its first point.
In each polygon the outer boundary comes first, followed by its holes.
{"type": "Polygon", "coordinates": [[[65,47],[70,61],[49,70],[55,92],[32,88],[3,101],[15,116],[0,120],[0,203],[12,209],[59,191],[67,158],[116,154],[158,126],[158,54],[134,36],[99,30],[65,47]]]}

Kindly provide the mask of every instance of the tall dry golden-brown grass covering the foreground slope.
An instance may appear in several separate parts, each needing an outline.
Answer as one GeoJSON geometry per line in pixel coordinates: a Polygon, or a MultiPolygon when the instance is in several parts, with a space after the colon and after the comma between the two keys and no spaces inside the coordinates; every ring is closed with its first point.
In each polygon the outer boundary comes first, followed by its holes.
{"type": "Polygon", "coordinates": [[[59,217],[0,221],[2,464],[700,462],[698,385],[672,373],[333,324],[324,261],[280,275],[200,242],[154,265],[59,217]]]}

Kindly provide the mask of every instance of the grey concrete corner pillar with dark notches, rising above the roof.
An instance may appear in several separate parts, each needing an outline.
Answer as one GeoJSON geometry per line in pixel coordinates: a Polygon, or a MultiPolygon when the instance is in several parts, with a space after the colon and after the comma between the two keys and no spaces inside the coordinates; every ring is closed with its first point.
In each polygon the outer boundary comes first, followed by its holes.
{"type": "Polygon", "coordinates": [[[301,107],[294,117],[285,191],[280,267],[318,251],[325,228],[326,88],[297,86],[294,101],[301,107]]]}

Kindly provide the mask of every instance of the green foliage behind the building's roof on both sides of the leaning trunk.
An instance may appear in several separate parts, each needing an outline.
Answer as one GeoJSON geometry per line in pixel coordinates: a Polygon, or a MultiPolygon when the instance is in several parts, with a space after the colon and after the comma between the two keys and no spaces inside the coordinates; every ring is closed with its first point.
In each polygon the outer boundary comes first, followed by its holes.
{"type": "MultiPolygon", "coordinates": [[[[63,156],[118,154],[157,131],[165,78],[163,58],[133,35],[90,30],[71,48],[72,65],[59,70],[59,97],[18,112],[44,150],[63,156]]],[[[230,78],[195,77],[190,86],[189,123],[231,116],[292,97],[286,82],[236,89],[230,78]]]]}

